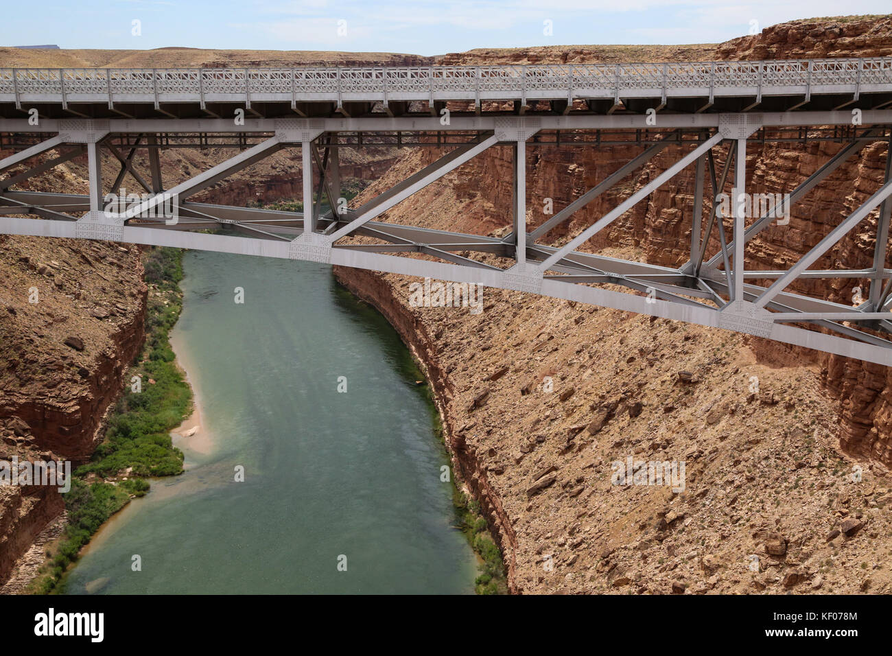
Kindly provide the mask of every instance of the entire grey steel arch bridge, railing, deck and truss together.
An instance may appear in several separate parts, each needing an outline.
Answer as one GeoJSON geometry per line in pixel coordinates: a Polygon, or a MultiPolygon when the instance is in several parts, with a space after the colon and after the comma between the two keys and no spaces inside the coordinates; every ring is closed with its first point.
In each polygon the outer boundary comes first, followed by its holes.
{"type": "Polygon", "coordinates": [[[865,146],[890,143],[890,106],[889,58],[6,69],[0,70],[0,149],[12,154],[0,159],[0,233],[177,246],[479,283],[889,365],[892,270],[886,263],[892,148],[875,193],[797,262],[774,270],[750,270],[744,262],[747,244],[823,179],[865,146]],[[843,145],[789,190],[780,206],[747,221],[747,143],[810,140],[843,145]],[[527,149],[612,143],[639,146],[640,154],[541,225],[528,227],[527,149]],[[376,198],[351,207],[341,195],[339,151],[366,145],[433,146],[445,154],[376,198]],[[381,220],[394,205],[493,145],[508,145],[515,154],[514,202],[505,208],[513,227],[508,236],[381,220]],[[235,155],[165,187],[159,151],[171,147],[231,147],[235,155]],[[269,154],[293,147],[301,150],[304,212],[189,200],[269,154]],[[103,151],[120,162],[111,184],[109,172],[103,171],[103,151]],[[564,243],[545,242],[553,228],[663,151],[677,157],[657,177],[564,243]],[[724,165],[717,166],[725,153],[724,165]],[[151,175],[136,170],[136,154],[147,155],[151,175]],[[16,188],[85,155],[87,195],[16,188]],[[694,168],[694,183],[688,262],[667,267],[579,250],[689,166],[694,168]],[[145,197],[110,204],[106,190],[117,193],[128,176],[145,189],[145,197]],[[723,212],[722,193],[729,182],[731,209],[723,212]],[[162,207],[172,208],[177,218],[160,213],[162,207]],[[876,217],[875,239],[866,246],[871,249],[870,267],[813,268],[868,217],[871,224],[876,217]],[[731,223],[730,234],[725,220],[731,223]],[[708,253],[715,233],[721,246],[708,253]],[[788,290],[804,278],[866,280],[869,289],[857,305],[788,290]]]}

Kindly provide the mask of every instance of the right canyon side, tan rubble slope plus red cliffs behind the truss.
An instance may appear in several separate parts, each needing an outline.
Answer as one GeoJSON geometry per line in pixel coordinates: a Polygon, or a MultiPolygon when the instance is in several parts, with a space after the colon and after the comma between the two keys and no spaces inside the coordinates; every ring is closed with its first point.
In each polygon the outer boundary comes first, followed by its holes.
{"type": "MultiPolygon", "coordinates": [[[[800,38],[801,29],[826,32],[821,54],[859,47],[888,54],[888,25],[886,19],[800,22],[763,36],[779,56],[814,56],[779,36],[800,38]],[[834,40],[837,24],[847,27],[834,40]]],[[[741,54],[758,44],[756,37],[739,40],[741,54]]],[[[731,47],[717,53],[731,56],[731,47]]],[[[789,191],[838,148],[756,146],[747,182],[753,191],[789,191]]],[[[529,151],[527,220],[533,226],[545,218],[545,198],[560,208],[640,152],[628,146],[529,151]]],[[[407,154],[366,193],[436,156],[426,149],[407,154]]],[[[562,243],[591,225],[678,156],[667,149],[547,241],[562,243]]],[[[510,157],[508,148],[491,148],[385,220],[505,234],[510,157]]],[[[885,145],[852,158],[796,208],[789,226],[766,230],[748,249],[748,261],[769,268],[814,245],[878,188],[885,158],[885,145]]],[[[676,177],[587,249],[683,262],[691,182],[690,173],[676,177]]],[[[862,246],[874,228],[875,217],[827,261],[869,265],[862,246]]],[[[407,278],[355,270],[337,275],[384,311],[425,362],[453,458],[499,536],[512,590],[892,590],[885,511],[892,425],[884,368],[499,290],[486,290],[480,315],[414,308],[407,278]],[[755,379],[760,385],[753,392],[755,379]],[[685,490],[612,485],[612,463],[629,457],[684,461],[685,490]]],[[[838,300],[850,298],[852,286],[866,285],[829,282],[822,291],[838,300]]]]}

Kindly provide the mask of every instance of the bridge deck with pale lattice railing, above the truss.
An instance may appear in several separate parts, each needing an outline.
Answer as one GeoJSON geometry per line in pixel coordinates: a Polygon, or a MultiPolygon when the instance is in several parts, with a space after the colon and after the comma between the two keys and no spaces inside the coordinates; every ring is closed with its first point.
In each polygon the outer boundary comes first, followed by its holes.
{"type": "MultiPolygon", "coordinates": [[[[465,101],[535,101],[569,104],[575,111],[607,113],[668,105],[669,110],[740,111],[774,100],[789,110],[825,96],[830,106],[848,96],[873,97],[864,108],[892,98],[892,58],[774,60],[764,62],[660,62],[510,66],[297,67],[251,69],[0,69],[0,115],[42,105],[47,116],[101,117],[116,105],[147,105],[176,117],[183,105],[238,104],[260,116],[296,110],[330,115],[332,105],[429,104],[465,101]],[[706,99],[706,103],[679,101],[706,99]],[[575,101],[585,101],[574,107],[575,101]],[[637,101],[637,103],[636,103],[637,101]]],[[[865,100],[867,98],[864,98],[865,100]]],[[[554,109],[554,108],[552,108],[554,109]]],[[[400,110],[401,112],[403,110],[400,110]]],[[[363,113],[368,113],[368,110],[363,113]]],[[[385,112],[380,112],[384,114],[385,112]]],[[[147,114],[144,114],[147,115],[147,114]]],[[[355,115],[355,113],[354,113],[355,115]]]]}

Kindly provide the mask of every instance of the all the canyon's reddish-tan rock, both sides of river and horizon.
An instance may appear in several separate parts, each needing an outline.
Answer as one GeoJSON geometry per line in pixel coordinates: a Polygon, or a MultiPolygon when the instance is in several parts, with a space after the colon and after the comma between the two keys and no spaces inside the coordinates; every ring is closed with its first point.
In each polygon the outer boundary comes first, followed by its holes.
{"type": "MultiPolygon", "coordinates": [[[[0,65],[440,65],[890,54],[892,18],[846,17],[780,24],[719,45],[555,46],[435,58],[0,48],[0,65]]],[[[747,151],[747,186],[788,192],[840,147],[754,145],[747,151]]],[[[565,206],[640,147],[540,145],[528,151],[527,222],[535,227],[546,219],[546,198],[556,208],[565,206]]],[[[546,241],[566,243],[659,175],[679,152],[666,148],[546,241]]],[[[344,176],[365,187],[356,201],[361,203],[439,154],[435,148],[346,151],[344,176]]],[[[165,179],[186,179],[228,155],[213,148],[166,150],[165,179]]],[[[774,268],[816,244],[879,187],[886,157],[884,145],[871,145],[850,159],[794,207],[788,226],[772,226],[754,240],[747,264],[774,268]]],[[[200,198],[299,198],[298,163],[293,154],[276,154],[200,198]]],[[[717,165],[722,163],[720,155],[717,165]]],[[[64,164],[39,187],[82,193],[84,165],[64,164]]],[[[511,222],[512,166],[511,149],[494,146],[381,219],[504,236],[511,222]]],[[[684,262],[692,176],[692,170],[676,176],[585,249],[684,262]]],[[[870,250],[862,245],[871,242],[875,228],[875,216],[865,220],[824,264],[870,267],[864,255],[870,250]]],[[[714,235],[708,252],[717,249],[714,235]]],[[[384,313],[424,367],[451,457],[500,545],[512,592],[892,591],[892,526],[885,510],[892,499],[892,372],[886,368],[503,290],[485,290],[482,314],[411,307],[410,278],[340,268],[335,276],[384,313]],[[630,456],[684,461],[685,489],[614,485],[612,464],[630,456]]],[[[0,309],[3,448],[20,458],[53,453],[83,460],[143,338],[146,288],[138,249],[0,237],[0,278],[0,293],[8,296],[0,309]],[[32,287],[43,294],[40,303],[28,302],[32,287]]],[[[798,290],[847,302],[853,286],[866,288],[867,281],[800,285],[798,290]]],[[[54,490],[10,489],[0,497],[0,582],[62,511],[54,490]]]]}

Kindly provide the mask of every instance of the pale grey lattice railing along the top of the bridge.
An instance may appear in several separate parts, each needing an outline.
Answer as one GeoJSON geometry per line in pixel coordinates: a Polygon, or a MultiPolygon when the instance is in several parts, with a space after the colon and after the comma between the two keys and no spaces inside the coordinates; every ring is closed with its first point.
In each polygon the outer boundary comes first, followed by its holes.
{"type": "Polygon", "coordinates": [[[892,58],[254,69],[0,69],[0,95],[388,95],[892,85],[892,58]]]}

